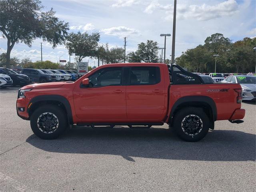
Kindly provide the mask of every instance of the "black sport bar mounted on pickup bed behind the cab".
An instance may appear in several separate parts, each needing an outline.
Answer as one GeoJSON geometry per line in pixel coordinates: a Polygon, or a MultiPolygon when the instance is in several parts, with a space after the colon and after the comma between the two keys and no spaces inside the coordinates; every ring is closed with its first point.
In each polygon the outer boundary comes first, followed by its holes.
{"type": "Polygon", "coordinates": [[[174,67],[173,70],[175,84],[202,84],[201,80],[195,74],[182,72],[176,67],[174,67]]]}

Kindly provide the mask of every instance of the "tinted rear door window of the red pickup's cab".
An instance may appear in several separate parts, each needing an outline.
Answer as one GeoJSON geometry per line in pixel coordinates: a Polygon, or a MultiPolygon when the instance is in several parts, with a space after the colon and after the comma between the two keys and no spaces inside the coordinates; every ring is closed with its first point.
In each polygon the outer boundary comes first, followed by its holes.
{"type": "Polygon", "coordinates": [[[132,67],[130,85],[153,85],[160,82],[159,67],[132,67]]]}

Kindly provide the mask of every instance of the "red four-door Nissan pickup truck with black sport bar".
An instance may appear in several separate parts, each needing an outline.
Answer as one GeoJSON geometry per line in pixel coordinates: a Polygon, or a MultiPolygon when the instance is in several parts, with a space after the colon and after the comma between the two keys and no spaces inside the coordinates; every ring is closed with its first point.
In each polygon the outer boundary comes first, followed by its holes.
{"type": "Polygon", "coordinates": [[[216,120],[243,122],[241,102],[240,84],[205,84],[175,64],[126,63],[100,66],[76,82],[24,86],[16,108],[42,139],[57,138],[72,124],[150,128],[167,123],[183,140],[198,141],[216,120]]]}

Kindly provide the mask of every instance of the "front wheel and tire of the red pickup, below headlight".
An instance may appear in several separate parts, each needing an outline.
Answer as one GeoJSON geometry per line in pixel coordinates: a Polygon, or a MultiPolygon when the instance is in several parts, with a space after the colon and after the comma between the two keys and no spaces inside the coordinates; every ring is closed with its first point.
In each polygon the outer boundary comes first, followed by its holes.
{"type": "Polygon", "coordinates": [[[30,126],[34,134],[39,138],[55,139],[66,130],[68,121],[66,114],[60,107],[45,105],[33,112],[30,118],[30,126]]]}

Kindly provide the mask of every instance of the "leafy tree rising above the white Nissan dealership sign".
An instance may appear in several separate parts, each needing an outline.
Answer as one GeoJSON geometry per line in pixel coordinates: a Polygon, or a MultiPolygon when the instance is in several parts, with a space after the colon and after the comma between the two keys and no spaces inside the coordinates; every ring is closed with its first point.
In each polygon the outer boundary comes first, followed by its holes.
{"type": "Polygon", "coordinates": [[[66,48],[70,55],[78,56],[78,62],[88,56],[97,55],[97,46],[100,40],[100,34],[87,32],[70,33],[67,37],[66,48]]]}

